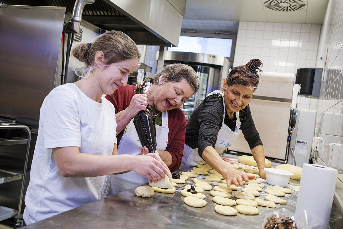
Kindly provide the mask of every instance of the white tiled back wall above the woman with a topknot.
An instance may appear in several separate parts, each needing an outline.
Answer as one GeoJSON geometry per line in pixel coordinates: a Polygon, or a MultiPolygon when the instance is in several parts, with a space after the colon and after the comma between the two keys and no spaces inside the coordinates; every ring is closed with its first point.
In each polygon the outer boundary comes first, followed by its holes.
{"type": "Polygon", "coordinates": [[[263,62],[263,71],[295,73],[297,68],[315,67],[319,24],[239,22],[234,65],[251,58],[263,62]]]}

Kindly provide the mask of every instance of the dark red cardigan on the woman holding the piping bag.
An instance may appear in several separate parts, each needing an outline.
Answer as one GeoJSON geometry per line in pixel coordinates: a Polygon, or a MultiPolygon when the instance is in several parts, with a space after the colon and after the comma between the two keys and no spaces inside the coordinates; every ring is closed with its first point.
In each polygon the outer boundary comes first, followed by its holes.
{"type": "MultiPolygon", "coordinates": [[[[126,85],[119,87],[113,94],[106,95],[105,98],[113,103],[116,113],[125,110],[131,102],[134,95],[134,86],[126,85]]],[[[168,144],[167,149],[173,158],[169,169],[171,172],[179,169],[182,157],[184,156],[185,134],[186,134],[186,117],[180,109],[168,111],[168,144]]],[[[123,131],[117,135],[118,145],[123,131]]]]}

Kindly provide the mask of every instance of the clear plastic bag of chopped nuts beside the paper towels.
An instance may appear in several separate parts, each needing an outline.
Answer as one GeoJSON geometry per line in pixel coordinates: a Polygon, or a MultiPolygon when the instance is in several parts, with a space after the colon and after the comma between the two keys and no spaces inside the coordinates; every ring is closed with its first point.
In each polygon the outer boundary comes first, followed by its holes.
{"type": "Polygon", "coordinates": [[[293,213],[285,208],[275,210],[264,217],[264,229],[297,229],[293,213]]]}

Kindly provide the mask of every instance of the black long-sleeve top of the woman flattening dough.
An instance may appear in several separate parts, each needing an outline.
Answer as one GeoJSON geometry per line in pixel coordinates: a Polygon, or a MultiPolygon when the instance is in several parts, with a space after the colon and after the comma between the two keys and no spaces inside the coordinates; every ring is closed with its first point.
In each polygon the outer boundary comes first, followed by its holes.
{"type": "MultiPolygon", "coordinates": [[[[207,96],[202,103],[192,112],[186,125],[186,144],[199,148],[199,156],[207,146],[214,148],[219,129],[223,125],[224,104],[221,94],[207,96]]],[[[240,128],[248,142],[250,149],[262,146],[260,135],[252,119],[249,104],[239,111],[240,128]]],[[[235,130],[236,116],[232,120],[225,111],[224,123],[232,131],[235,130]]]]}

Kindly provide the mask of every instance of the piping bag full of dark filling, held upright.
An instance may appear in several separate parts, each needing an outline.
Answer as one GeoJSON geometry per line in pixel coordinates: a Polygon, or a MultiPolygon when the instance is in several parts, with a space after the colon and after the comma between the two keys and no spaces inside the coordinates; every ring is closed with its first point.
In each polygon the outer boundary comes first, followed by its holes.
{"type": "MultiPolygon", "coordinates": [[[[136,94],[145,92],[144,84],[144,69],[138,69],[137,85],[134,89],[136,94]]],[[[156,126],[155,126],[155,113],[148,104],[145,111],[140,111],[134,118],[133,124],[136,128],[139,141],[142,146],[149,149],[149,153],[154,153],[156,150],[156,126]]]]}

